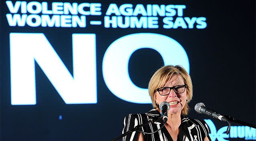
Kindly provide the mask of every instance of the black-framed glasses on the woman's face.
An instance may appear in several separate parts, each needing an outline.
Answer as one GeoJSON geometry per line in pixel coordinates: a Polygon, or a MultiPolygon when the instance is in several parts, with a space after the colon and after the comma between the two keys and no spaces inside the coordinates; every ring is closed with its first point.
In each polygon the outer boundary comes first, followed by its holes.
{"type": "Polygon", "coordinates": [[[160,95],[169,95],[169,93],[171,92],[171,89],[173,89],[173,91],[176,94],[179,94],[179,93],[184,93],[186,87],[187,87],[187,85],[177,85],[177,86],[173,86],[173,87],[161,87],[161,88],[156,89],[156,91],[158,91],[158,93],[160,95]]]}

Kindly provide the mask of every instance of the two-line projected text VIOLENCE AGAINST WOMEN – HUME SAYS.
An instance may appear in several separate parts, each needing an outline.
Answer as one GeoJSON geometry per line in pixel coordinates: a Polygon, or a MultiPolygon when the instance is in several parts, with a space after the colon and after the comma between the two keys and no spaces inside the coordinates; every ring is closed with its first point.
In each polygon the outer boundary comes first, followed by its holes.
{"type": "Polygon", "coordinates": [[[166,28],[203,29],[205,17],[187,16],[185,5],[173,4],[109,4],[102,11],[101,3],[6,1],[10,13],[9,26],[86,28],[166,28]],[[50,7],[50,8],[49,8],[50,7]],[[88,21],[88,16],[97,20],[88,21]],[[104,24],[102,24],[104,23],[104,24]],[[161,25],[161,26],[160,26],[161,25]]]}

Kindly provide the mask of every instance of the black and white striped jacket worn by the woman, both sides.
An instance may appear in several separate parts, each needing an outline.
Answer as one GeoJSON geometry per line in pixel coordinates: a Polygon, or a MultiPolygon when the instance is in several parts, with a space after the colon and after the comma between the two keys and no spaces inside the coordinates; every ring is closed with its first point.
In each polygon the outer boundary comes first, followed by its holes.
{"type": "MultiPolygon", "coordinates": [[[[161,114],[156,109],[152,109],[145,114],[130,114],[124,118],[124,129],[122,133],[127,132],[137,125],[147,122],[149,119],[157,119],[160,116],[161,114]]],[[[162,125],[163,121],[149,123],[148,125],[142,127],[142,131],[152,133],[160,129],[162,125]]],[[[178,136],[179,141],[203,141],[206,136],[211,141],[208,126],[203,120],[189,119],[181,115],[181,127],[182,128],[180,128],[178,136]]],[[[134,131],[132,134],[123,137],[123,141],[137,141],[138,135],[139,132],[134,131]]],[[[171,135],[165,127],[156,133],[143,133],[143,135],[145,141],[173,141],[171,135]]]]}

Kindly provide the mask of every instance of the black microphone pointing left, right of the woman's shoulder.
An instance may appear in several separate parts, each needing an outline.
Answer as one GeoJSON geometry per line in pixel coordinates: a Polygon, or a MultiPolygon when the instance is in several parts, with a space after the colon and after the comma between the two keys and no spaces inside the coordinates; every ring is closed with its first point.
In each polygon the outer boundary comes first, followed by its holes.
{"type": "Polygon", "coordinates": [[[197,103],[195,105],[195,111],[199,114],[203,113],[205,115],[209,115],[210,117],[214,117],[216,119],[219,119],[221,121],[228,121],[228,119],[226,119],[226,117],[224,117],[223,115],[211,110],[211,109],[208,109],[205,107],[205,105],[203,103],[197,103]]]}

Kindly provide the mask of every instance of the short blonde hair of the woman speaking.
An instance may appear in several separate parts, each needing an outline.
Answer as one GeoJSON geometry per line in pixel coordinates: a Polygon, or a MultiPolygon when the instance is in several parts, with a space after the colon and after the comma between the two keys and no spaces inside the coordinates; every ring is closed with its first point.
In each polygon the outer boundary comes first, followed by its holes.
{"type": "Polygon", "coordinates": [[[154,75],[151,77],[149,83],[148,83],[148,92],[151,97],[152,105],[154,108],[159,110],[159,105],[156,105],[156,89],[160,87],[164,87],[165,83],[167,83],[173,75],[179,75],[182,77],[185,85],[187,85],[187,102],[185,104],[185,107],[182,109],[181,114],[182,115],[187,115],[189,112],[189,106],[188,103],[191,101],[192,96],[193,96],[193,86],[192,86],[192,81],[185,70],[182,66],[173,66],[173,65],[168,65],[168,66],[163,66],[159,68],[154,75]]]}

